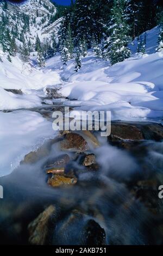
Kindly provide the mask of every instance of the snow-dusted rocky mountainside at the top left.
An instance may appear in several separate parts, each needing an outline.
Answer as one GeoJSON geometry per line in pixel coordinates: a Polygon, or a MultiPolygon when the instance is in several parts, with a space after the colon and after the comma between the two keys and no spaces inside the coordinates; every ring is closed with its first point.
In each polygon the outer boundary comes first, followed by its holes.
{"type": "Polygon", "coordinates": [[[3,10],[0,2],[0,17],[3,14],[8,18],[8,28],[11,33],[17,31],[14,33],[17,45],[22,44],[22,34],[26,42],[30,39],[34,43],[37,34],[41,42],[49,39],[49,32],[51,32],[49,25],[52,25],[52,32],[57,31],[60,25],[60,22],[52,22],[56,13],[57,9],[49,0],[28,0],[22,4],[8,2],[7,10],[3,10]],[[24,19],[29,19],[29,30],[27,29],[27,31],[24,29],[24,19]],[[48,27],[48,32],[45,32],[46,27],[48,27]]]}

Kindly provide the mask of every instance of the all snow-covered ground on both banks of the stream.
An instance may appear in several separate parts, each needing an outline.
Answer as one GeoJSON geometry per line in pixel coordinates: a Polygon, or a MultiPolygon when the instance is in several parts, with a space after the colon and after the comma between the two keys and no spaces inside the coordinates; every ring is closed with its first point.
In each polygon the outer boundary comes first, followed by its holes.
{"type": "MultiPolygon", "coordinates": [[[[60,55],[48,59],[42,70],[26,64],[16,56],[10,63],[0,62],[0,110],[30,108],[41,105],[40,96],[47,86],[62,84],[60,93],[82,109],[111,111],[112,119],[160,121],[163,118],[163,57],[155,53],[159,28],[147,32],[147,53],[133,56],[110,66],[97,60],[92,51],[82,60],[82,69],[74,72],[74,59],[62,69],[60,55]],[[61,78],[66,81],[63,82],[61,78]],[[16,95],[5,89],[21,89],[16,95]]],[[[49,101],[52,103],[52,101],[49,101]]],[[[46,138],[55,136],[52,123],[32,111],[0,112],[0,176],[9,174],[46,138]]]]}

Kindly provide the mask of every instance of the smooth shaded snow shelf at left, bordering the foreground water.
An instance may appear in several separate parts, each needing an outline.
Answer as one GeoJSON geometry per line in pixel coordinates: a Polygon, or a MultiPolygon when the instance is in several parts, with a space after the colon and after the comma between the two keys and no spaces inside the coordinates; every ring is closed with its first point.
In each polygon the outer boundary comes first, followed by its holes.
{"type": "Polygon", "coordinates": [[[24,156],[56,136],[52,123],[32,111],[0,112],[0,176],[14,170],[24,156]]]}

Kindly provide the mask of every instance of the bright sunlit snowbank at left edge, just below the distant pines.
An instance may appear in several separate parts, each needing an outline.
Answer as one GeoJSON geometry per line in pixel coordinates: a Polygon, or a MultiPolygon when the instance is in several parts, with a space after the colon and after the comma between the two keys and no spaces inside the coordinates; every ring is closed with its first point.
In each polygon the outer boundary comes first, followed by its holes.
{"type": "Polygon", "coordinates": [[[0,87],[5,89],[41,89],[60,83],[60,76],[51,69],[38,70],[29,64],[23,64],[18,56],[0,62],[0,87]]]}

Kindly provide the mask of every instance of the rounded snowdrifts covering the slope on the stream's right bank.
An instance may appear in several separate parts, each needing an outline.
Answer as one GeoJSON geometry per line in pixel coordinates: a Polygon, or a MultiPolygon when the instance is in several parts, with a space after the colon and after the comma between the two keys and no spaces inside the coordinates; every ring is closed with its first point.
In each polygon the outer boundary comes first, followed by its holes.
{"type": "Polygon", "coordinates": [[[133,56],[113,66],[89,52],[76,73],[71,60],[63,74],[69,83],[60,93],[78,102],[66,104],[79,106],[79,115],[81,109],[101,109],[111,111],[112,119],[162,121],[163,57],[155,52],[158,32],[159,27],[147,32],[148,54],[135,54],[135,40],[130,46],[133,56]]]}

